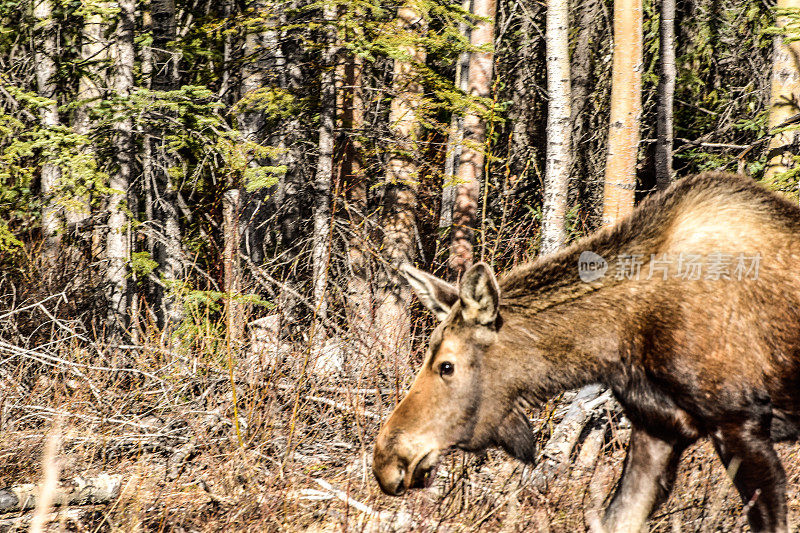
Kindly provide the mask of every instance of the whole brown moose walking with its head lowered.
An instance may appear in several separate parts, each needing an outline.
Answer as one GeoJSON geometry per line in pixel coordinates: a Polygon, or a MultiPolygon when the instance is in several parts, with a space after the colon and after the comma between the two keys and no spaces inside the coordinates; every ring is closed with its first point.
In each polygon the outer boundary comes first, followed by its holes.
{"type": "Polygon", "coordinates": [[[632,430],[598,529],[639,532],[682,452],[708,437],[752,530],[788,532],[773,443],[800,432],[798,267],[800,208],[725,173],[679,180],[617,225],[499,280],[483,263],[458,287],[404,266],[439,324],[376,438],[381,489],[428,485],[452,448],[534,462],[525,409],[601,383],[632,430]]]}

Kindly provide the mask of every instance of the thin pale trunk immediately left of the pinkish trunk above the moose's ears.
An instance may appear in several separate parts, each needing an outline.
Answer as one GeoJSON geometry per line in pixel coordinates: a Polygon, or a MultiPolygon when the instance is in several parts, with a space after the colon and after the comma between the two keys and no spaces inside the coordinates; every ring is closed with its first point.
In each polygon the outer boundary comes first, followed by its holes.
{"type": "MultiPolygon", "coordinates": [[[[461,7],[464,11],[471,10],[472,0],[464,0],[461,7]]],[[[459,23],[458,30],[467,38],[471,30],[466,23],[459,23]]],[[[456,65],[455,86],[467,92],[469,81],[469,52],[461,52],[456,65]]],[[[454,112],[450,119],[450,129],[447,135],[447,151],[444,160],[444,182],[442,183],[442,206],[439,210],[439,230],[444,232],[453,225],[453,207],[456,203],[457,163],[461,159],[461,150],[464,143],[464,117],[460,112],[454,112]]]]}

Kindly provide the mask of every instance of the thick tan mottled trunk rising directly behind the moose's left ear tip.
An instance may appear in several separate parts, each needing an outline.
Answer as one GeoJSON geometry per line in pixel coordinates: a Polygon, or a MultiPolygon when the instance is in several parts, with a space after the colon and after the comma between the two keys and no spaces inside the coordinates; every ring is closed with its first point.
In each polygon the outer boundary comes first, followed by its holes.
{"type": "MultiPolygon", "coordinates": [[[[423,33],[425,19],[412,5],[397,10],[398,31],[423,33]]],[[[405,45],[405,53],[417,63],[425,63],[425,49],[405,45]]],[[[400,279],[397,268],[413,261],[416,250],[416,208],[418,188],[417,154],[420,123],[417,113],[422,103],[422,85],[412,62],[394,61],[394,98],[389,124],[396,149],[386,169],[386,190],[381,214],[382,251],[386,260],[378,279],[375,329],[385,354],[408,355],[411,322],[408,315],[411,292],[400,279]]]]}

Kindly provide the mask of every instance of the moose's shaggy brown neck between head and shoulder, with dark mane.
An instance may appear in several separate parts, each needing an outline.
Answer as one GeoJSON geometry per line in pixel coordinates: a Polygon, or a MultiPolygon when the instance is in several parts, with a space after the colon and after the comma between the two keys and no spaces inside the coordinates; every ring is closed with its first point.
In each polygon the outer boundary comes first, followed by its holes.
{"type": "Polygon", "coordinates": [[[618,260],[649,258],[660,250],[680,201],[675,193],[650,197],[616,226],[498,280],[502,326],[493,359],[506,372],[509,364],[519,369],[521,394],[544,400],[565,389],[620,378],[621,360],[636,350],[637,317],[655,305],[659,282],[630,279],[617,270],[618,260]],[[584,254],[607,262],[608,270],[584,273],[582,279],[584,254]]]}

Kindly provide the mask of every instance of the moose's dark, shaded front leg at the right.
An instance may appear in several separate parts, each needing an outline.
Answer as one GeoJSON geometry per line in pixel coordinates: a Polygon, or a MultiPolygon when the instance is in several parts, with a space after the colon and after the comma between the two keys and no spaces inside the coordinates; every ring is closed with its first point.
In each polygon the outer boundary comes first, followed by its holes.
{"type": "Polygon", "coordinates": [[[747,421],[720,427],[712,436],[725,468],[749,507],[754,532],[788,532],[786,474],[769,438],[769,424],[747,421]]]}

